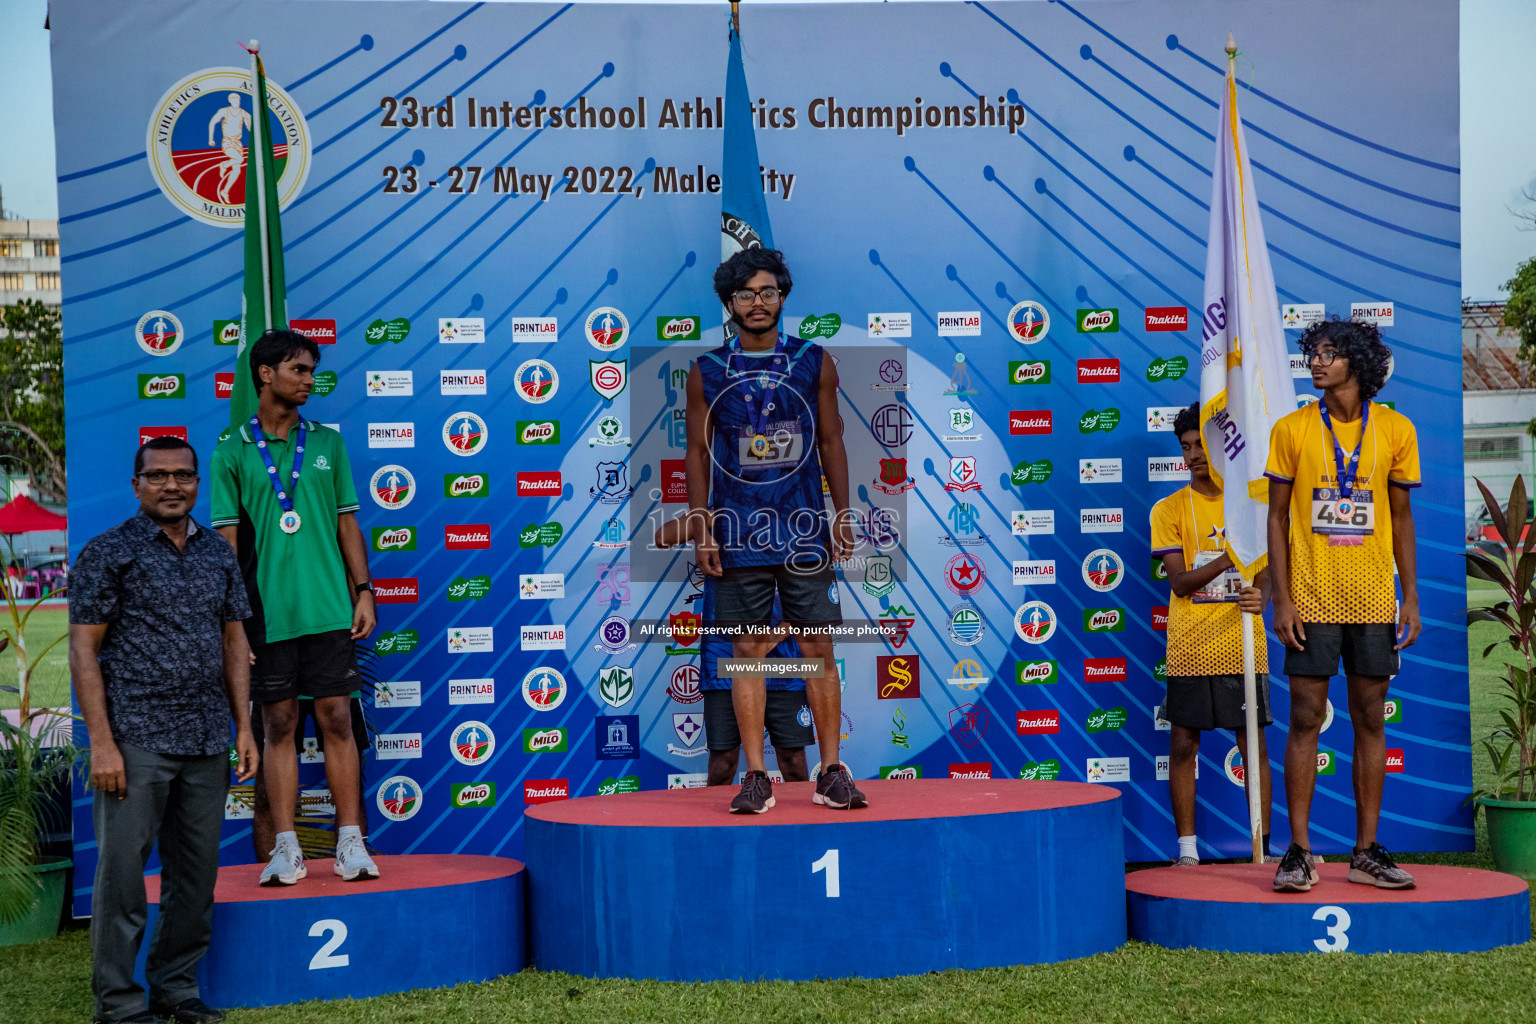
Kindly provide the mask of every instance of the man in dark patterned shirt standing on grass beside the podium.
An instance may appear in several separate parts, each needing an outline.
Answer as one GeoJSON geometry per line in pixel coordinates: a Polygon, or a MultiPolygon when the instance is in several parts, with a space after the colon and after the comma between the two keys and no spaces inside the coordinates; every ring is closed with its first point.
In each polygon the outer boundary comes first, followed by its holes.
{"type": "Polygon", "coordinates": [[[221,1021],[198,998],[229,791],[257,772],[250,616],[235,551],[192,520],[197,453],[155,438],[134,459],[138,514],[86,542],[69,597],[69,671],[91,734],[97,838],[91,898],[95,1019],[221,1021]],[[160,843],[160,924],[144,976],[144,863],[160,843]]]}

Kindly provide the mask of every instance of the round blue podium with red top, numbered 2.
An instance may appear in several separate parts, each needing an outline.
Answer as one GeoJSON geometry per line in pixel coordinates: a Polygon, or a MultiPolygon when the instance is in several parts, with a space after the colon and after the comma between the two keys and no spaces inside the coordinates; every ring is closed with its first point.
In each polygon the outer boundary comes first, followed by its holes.
{"type": "MultiPolygon", "coordinates": [[[[378,857],[379,878],[341,881],[309,861],[296,886],[263,889],[260,864],[218,872],[214,941],[198,966],[209,1006],[275,1006],[487,981],[527,966],[524,869],[504,857],[378,857]]],[[[149,889],[149,927],[160,877],[149,889]]]]}

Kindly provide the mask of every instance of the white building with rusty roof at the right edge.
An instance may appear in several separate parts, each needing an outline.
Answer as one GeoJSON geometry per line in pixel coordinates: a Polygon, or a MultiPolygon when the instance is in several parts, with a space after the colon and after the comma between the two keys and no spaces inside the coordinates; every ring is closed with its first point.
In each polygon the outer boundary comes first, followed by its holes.
{"type": "Polygon", "coordinates": [[[1504,329],[1504,302],[1461,304],[1461,422],[1465,459],[1467,531],[1482,513],[1476,479],[1501,502],[1510,485],[1525,476],[1536,490],[1536,442],[1528,433],[1536,418],[1536,381],[1514,350],[1519,338],[1504,329]]]}

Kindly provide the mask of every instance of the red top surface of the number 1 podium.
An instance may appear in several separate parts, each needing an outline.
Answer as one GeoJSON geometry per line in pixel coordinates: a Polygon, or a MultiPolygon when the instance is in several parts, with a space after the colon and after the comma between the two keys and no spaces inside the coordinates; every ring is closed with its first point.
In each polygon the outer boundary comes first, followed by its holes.
{"type": "Polygon", "coordinates": [[[1114,786],[1020,778],[872,778],[860,780],[859,789],[869,797],[869,806],[859,811],[831,811],[813,803],[816,783],[776,783],[773,788],[776,803],[766,814],[731,814],[736,788],[711,786],[556,800],[528,808],[527,815],[558,824],[748,827],[958,818],[977,814],[1049,811],[1120,797],[1120,791],[1114,786]]]}

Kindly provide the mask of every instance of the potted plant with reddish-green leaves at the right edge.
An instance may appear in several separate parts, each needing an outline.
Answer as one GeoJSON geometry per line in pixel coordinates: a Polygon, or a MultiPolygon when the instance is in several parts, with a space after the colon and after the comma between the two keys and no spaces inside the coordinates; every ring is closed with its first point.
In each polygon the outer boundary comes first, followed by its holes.
{"type": "Polygon", "coordinates": [[[1467,625],[1491,622],[1507,636],[1484,651],[1508,648],[1514,657],[1504,666],[1505,691],[1499,708],[1502,725],[1482,740],[1493,765],[1493,781],[1473,794],[1488,823],[1488,844],[1499,870],[1536,878],[1536,679],[1531,672],[1531,640],[1536,637],[1536,528],[1525,524],[1528,508],[1525,477],[1514,477],[1505,508],[1478,481],[1493,520],[1495,539],[1482,551],[1467,553],[1467,574],[1504,591],[1504,600],[1487,608],[1468,608],[1467,625]]]}

